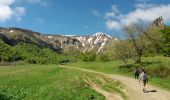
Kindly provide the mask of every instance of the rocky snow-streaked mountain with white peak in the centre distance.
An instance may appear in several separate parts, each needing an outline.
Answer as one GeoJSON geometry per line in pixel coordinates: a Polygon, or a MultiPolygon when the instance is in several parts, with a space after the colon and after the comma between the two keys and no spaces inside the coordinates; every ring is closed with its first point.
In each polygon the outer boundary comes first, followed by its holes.
{"type": "Polygon", "coordinates": [[[91,36],[72,36],[72,35],[44,35],[43,40],[53,46],[59,46],[63,50],[72,50],[71,48],[78,49],[82,52],[95,51],[100,53],[106,43],[111,39],[115,39],[106,33],[97,32],[91,36]]]}

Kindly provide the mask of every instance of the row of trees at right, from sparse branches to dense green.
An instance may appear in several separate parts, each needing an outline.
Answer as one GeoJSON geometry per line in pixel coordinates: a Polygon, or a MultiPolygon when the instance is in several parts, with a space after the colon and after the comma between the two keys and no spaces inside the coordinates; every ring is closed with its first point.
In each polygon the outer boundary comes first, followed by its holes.
{"type": "Polygon", "coordinates": [[[170,26],[158,27],[143,23],[124,26],[126,39],[114,45],[115,57],[128,66],[128,61],[140,64],[142,56],[170,56],[170,26]]]}

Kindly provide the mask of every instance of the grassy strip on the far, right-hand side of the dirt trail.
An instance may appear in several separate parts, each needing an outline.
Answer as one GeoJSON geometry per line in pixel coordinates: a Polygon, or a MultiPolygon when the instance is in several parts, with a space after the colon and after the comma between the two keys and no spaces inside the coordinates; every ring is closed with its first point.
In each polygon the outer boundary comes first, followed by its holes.
{"type": "Polygon", "coordinates": [[[140,65],[129,61],[129,67],[124,67],[120,60],[110,62],[76,62],[68,63],[67,66],[85,68],[109,74],[120,74],[134,77],[133,70],[137,66],[139,69],[144,67],[148,73],[149,83],[158,87],[170,90],[170,58],[163,56],[142,57],[140,65]]]}

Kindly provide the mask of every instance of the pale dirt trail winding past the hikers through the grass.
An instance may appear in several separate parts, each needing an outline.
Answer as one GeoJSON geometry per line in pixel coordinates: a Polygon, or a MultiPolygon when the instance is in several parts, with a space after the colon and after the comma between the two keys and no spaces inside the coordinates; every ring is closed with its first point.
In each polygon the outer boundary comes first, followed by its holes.
{"type": "MultiPolygon", "coordinates": [[[[143,93],[142,87],[140,86],[138,80],[135,80],[133,78],[129,78],[126,76],[121,76],[121,75],[106,74],[106,73],[82,69],[82,68],[74,68],[74,67],[68,67],[68,68],[78,69],[78,70],[85,71],[85,72],[102,74],[102,75],[105,75],[105,76],[112,78],[114,80],[120,81],[125,86],[124,87],[126,89],[125,92],[129,98],[129,100],[170,100],[170,92],[169,91],[163,90],[161,88],[158,88],[158,87],[155,87],[152,85],[147,85],[146,88],[148,91],[153,91],[153,92],[143,93]],[[155,90],[157,92],[155,92],[155,90]]],[[[101,91],[100,89],[98,89],[98,87],[96,87],[95,90],[100,92],[101,94],[105,94],[105,92],[106,92],[106,91],[101,91]]],[[[115,100],[115,98],[112,97],[115,95],[109,95],[109,93],[107,93],[107,94],[108,95],[104,95],[107,100],[115,100]]],[[[120,100],[120,99],[117,98],[117,100],[120,100]]]]}

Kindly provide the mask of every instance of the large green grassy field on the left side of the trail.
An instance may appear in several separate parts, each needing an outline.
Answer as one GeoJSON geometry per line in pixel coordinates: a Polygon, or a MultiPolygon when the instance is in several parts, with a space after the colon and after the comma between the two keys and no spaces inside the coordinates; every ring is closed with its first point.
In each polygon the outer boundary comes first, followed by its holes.
{"type": "Polygon", "coordinates": [[[104,100],[89,80],[127,98],[119,82],[102,75],[56,65],[24,65],[0,67],[0,100],[104,100]]]}

